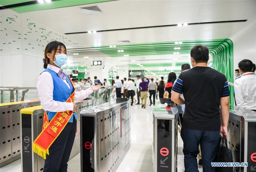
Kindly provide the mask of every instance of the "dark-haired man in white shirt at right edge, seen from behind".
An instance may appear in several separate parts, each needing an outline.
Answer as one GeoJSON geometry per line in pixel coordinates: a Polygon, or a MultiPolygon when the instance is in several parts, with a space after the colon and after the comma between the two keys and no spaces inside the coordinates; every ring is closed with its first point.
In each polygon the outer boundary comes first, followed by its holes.
{"type": "Polygon", "coordinates": [[[234,81],[236,105],[256,111],[256,75],[251,60],[242,60],[238,63],[242,77],[234,81]]]}

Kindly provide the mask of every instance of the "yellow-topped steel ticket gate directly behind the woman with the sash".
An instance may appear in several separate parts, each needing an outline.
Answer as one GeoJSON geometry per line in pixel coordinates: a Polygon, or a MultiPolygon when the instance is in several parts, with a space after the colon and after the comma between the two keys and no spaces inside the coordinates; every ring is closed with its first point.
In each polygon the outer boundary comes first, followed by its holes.
{"type": "MultiPolygon", "coordinates": [[[[75,102],[77,105],[77,133],[71,151],[70,158],[80,152],[80,112],[93,106],[93,99],[86,98],[75,102]]],[[[20,111],[22,152],[21,169],[24,172],[43,171],[44,159],[32,151],[32,142],[41,133],[43,127],[44,110],[42,106],[24,108],[20,111]]]]}

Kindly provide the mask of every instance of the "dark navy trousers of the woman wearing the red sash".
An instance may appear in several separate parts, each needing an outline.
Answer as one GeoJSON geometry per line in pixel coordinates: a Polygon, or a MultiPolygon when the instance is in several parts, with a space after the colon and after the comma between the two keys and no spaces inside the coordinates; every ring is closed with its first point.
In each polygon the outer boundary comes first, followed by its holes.
{"type": "Polygon", "coordinates": [[[66,172],[67,162],[76,136],[77,120],[73,116],[73,123],[67,123],[57,139],[49,148],[49,155],[44,161],[44,172],[66,172]]]}

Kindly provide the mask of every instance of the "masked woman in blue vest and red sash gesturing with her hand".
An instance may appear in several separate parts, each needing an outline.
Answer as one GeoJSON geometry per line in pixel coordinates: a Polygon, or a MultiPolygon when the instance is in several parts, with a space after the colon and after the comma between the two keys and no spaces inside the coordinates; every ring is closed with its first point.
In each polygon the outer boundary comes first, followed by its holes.
{"type": "Polygon", "coordinates": [[[37,81],[38,96],[45,111],[43,130],[33,142],[33,151],[45,159],[44,172],[67,171],[77,125],[74,101],[83,100],[100,89],[100,85],[96,85],[75,92],[71,79],[61,69],[67,62],[66,54],[63,43],[48,43],[43,60],[46,70],[37,81]]]}

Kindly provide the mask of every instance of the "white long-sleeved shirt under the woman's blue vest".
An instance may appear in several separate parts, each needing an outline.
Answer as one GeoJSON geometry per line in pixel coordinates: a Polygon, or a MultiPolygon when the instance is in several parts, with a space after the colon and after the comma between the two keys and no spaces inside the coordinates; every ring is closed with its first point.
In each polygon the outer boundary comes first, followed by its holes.
{"type": "MultiPolygon", "coordinates": [[[[47,68],[53,70],[58,73],[59,69],[56,66],[48,64],[47,68]]],[[[62,80],[68,87],[69,84],[66,79],[62,80]]],[[[72,81],[71,81],[72,83],[72,81]]],[[[50,112],[64,112],[67,110],[73,110],[73,103],[71,102],[59,102],[53,100],[53,79],[49,72],[43,72],[37,80],[36,85],[38,91],[38,97],[41,101],[41,106],[44,110],[48,110],[50,112]]],[[[70,89],[70,87],[69,87],[70,89]]],[[[82,90],[80,92],[75,92],[75,101],[83,100],[88,97],[92,93],[92,88],[88,88],[87,90],[82,90]]]]}

